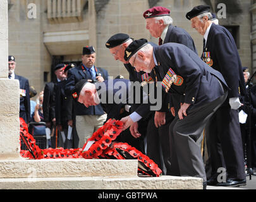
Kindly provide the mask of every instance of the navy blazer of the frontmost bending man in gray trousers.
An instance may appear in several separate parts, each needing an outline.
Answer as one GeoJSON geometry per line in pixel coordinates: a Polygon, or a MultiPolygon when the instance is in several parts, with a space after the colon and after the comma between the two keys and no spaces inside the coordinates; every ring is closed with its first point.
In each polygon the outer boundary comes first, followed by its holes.
{"type": "Polygon", "coordinates": [[[218,86],[219,81],[228,88],[222,74],[210,68],[185,45],[168,43],[154,47],[153,50],[159,66],[155,66],[152,75],[162,81],[171,68],[181,76],[182,85],[173,84],[169,90],[180,94],[181,102],[201,105],[216,100],[223,95],[221,88],[214,87],[218,86]]]}

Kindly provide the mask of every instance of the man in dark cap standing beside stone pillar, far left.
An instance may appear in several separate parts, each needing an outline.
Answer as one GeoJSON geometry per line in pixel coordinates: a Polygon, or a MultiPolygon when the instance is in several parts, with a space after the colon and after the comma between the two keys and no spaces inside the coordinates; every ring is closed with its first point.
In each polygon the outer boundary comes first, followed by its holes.
{"type": "Polygon", "coordinates": [[[27,78],[15,74],[16,62],[14,56],[8,56],[8,78],[20,81],[20,117],[28,124],[30,121],[30,95],[27,78]]]}

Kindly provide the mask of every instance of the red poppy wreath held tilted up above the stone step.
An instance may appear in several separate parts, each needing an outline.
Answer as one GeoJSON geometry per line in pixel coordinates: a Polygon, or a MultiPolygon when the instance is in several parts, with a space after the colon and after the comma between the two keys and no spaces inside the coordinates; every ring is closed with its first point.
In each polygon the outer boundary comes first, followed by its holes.
{"type": "Polygon", "coordinates": [[[109,119],[104,126],[92,134],[82,148],[83,158],[104,158],[104,150],[109,148],[112,141],[122,132],[123,122],[109,119]]]}

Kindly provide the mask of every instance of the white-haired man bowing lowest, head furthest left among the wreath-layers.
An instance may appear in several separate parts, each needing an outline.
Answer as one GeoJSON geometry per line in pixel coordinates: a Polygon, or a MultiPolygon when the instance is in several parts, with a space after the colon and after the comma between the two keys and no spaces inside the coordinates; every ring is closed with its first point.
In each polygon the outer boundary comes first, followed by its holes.
{"type": "MultiPolygon", "coordinates": [[[[125,79],[106,80],[95,84],[81,80],[76,83],[73,98],[87,107],[100,104],[107,113],[106,121],[120,120],[130,114],[129,105],[134,102],[133,98],[130,98],[130,86],[130,80],[125,79]]],[[[143,149],[140,141],[131,136],[129,129],[119,134],[115,141],[128,143],[138,150],[143,149]]]]}

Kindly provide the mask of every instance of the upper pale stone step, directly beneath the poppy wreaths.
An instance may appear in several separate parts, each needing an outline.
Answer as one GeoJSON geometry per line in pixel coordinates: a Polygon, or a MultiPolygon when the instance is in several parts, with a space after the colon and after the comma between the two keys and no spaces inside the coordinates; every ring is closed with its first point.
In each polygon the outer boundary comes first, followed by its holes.
{"type": "Polygon", "coordinates": [[[0,160],[1,178],[137,176],[138,160],[40,159],[0,160]]]}

